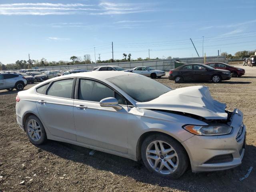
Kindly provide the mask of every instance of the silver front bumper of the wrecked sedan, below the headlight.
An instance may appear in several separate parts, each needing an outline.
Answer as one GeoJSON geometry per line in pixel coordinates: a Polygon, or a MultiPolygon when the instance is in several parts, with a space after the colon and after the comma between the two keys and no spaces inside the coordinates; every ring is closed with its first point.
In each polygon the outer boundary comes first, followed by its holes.
{"type": "Polygon", "coordinates": [[[234,168],[242,163],[246,142],[243,113],[235,109],[230,118],[232,132],[222,136],[193,136],[182,142],[190,158],[192,172],[234,168]]]}

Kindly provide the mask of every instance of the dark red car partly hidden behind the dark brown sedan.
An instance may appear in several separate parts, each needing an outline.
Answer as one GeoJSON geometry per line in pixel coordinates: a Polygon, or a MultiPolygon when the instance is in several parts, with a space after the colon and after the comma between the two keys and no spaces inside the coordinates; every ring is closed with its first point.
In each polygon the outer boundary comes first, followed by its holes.
{"type": "Polygon", "coordinates": [[[228,70],[231,72],[232,77],[237,77],[237,76],[242,76],[245,74],[245,70],[242,68],[238,68],[238,67],[234,67],[231,65],[228,65],[226,63],[222,63],[222,62],[209,62],[209,63],[205,63],[208,66],[211,66],[215,69],[224,69],[224,70],[228,70]]]}

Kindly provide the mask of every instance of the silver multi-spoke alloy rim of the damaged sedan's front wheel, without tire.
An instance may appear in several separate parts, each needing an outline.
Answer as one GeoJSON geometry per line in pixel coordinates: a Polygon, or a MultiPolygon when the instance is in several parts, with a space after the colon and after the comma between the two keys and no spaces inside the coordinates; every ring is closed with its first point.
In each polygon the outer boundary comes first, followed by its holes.
{"type": "Polygon", "coordinates": [[[160,140],[153,141],[148,145],[146,158],[150,167],[161,174],[172,174],[179,164],[178,154],[174,148],[160,140]]]}

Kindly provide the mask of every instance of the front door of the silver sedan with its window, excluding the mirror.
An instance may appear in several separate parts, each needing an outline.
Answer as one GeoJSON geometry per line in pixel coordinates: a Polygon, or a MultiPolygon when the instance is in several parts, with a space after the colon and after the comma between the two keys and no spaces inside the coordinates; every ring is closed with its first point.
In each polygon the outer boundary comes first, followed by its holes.
{"type": "Polygon", "coordinates": [[[118,111],[111,107],[101,107],[100,100],[107,97],[115,97],[120,104],[124,104],[122,96],[108,86],[80,79],[78,96],[74,100],[77,141],[127,154],[127,106],[122,105],[123,108],[118,111]]]}

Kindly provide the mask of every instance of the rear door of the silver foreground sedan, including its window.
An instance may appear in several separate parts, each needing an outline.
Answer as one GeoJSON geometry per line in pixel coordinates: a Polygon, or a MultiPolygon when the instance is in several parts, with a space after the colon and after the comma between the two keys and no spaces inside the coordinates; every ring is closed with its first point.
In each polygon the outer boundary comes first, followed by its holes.
{"type": "Polygon", "coordinates": [[[76,79],[57,80],[37,88],[38,113],[54,136],[76,140],[73,117],[74,85],[76,79]]]}

